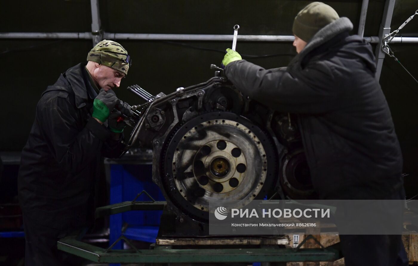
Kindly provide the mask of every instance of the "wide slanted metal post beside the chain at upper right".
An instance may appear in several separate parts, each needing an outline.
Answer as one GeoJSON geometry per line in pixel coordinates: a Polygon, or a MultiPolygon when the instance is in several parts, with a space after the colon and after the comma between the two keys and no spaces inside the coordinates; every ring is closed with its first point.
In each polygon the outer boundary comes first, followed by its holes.
{"type": "Polygon", "coordinates": [[[393,8],[395,7],[396,0],[386,0],[385,9],[383,10],[382,24],[380,25],[379,30],[379,42],[376,46],[375,56],[376,56],[376,79],[380,79],[380,73],[382,72],[383,60],[385,59],[385,53],[383,53],[382,40],[387,34],[390,33],[390,22],[392,21],[393,8]]]}

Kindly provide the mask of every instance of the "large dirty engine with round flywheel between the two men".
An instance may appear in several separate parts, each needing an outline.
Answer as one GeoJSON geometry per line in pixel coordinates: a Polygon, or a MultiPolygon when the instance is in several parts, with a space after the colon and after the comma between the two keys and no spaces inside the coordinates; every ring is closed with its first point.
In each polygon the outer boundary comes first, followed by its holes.
{"type": "Polygon", "coordinates": [[[315,197],[296,115],[242,95],[222,71],[169,95],[128,89],[146,102],[133,106],[127,148],[153,149],[153,182],[167,200],[161,223],[175,220],[176,235],[204,235],[214,200],[315,197]]]}

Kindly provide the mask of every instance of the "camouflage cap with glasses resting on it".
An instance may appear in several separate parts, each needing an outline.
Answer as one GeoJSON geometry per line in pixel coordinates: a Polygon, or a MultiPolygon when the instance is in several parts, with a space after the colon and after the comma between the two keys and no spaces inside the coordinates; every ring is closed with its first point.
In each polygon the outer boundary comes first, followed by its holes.
{"type": "Polygon", "coordinates": [[[87,61],[93,61],[106,67],[111,67],[126,76],[129,69],[129,64],[126,62],[127,57],[128,52],[122,45],[115,41],[103,40],[89,51],[87,61]]]}

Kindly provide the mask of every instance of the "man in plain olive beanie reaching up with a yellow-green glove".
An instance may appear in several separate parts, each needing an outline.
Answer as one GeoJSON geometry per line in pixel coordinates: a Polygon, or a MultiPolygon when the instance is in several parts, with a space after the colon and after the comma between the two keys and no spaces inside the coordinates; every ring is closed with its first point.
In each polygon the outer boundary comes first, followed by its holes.
{"type": "MultiPolygon", "coordinates": [[[[352,28],[329,5],[311,3],[294,20],[298,54],[288,67],[264,69],[227,49],[224,71],[250,99],[297,114],[322,199],[403,200],[403,159],[375,57],[369,43],[349,36],[352,28]]],[[[400,235],[340,235],[340,241],[347,266],[408,265],[400,235]]]]}

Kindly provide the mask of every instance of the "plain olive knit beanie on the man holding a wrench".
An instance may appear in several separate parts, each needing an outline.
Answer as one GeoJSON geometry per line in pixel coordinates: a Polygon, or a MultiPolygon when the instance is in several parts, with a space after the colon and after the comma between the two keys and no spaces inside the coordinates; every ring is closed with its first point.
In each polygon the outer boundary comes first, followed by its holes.
{"type": "Polygon", "coordinates": [[[309,42],[321,28],[337,19],[339,15],[329,5],[321,2],[310,3],[296,16],[293,22],[293,34],[309,42]]]}

